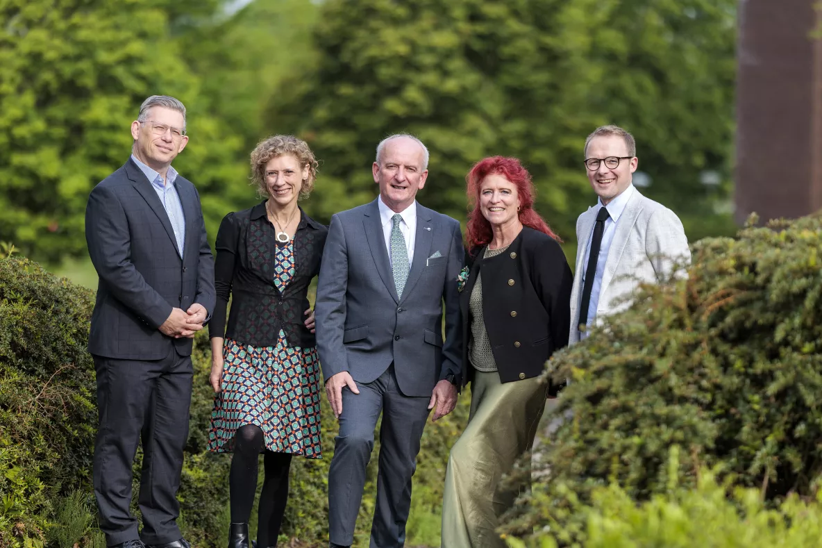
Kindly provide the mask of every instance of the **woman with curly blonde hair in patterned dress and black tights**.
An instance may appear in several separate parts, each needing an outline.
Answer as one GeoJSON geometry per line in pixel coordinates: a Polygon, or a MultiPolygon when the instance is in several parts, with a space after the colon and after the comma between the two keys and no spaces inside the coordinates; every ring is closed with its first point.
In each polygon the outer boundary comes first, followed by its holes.
{"type": "Polygon", "coordinates": [[[229,548],[248,548],[248,519],[264,453],[257,545],[277,545],[293,455],[321,458],[320,365],[308,285],[320,272],[326,226],[298,206],[317,161],[305,142],[269,137],[251,155],[262,197],[229,213],[217,233],[217,304],[209,323],[215,391],[209,448],[233,451],[229,548]],[[226,309],[233,295],[226,327],[226,309]]]}

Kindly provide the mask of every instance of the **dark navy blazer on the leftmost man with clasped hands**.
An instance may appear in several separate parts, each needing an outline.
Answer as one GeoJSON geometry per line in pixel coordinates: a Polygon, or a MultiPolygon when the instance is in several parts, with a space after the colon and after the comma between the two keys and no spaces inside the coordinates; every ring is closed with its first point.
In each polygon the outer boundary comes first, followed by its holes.
{"type": "Polygon", "coordinates": [[[200,195],[178,176],[186,219],[183,257],[155,189],[129,158],[91,191],[85,242],[99,276],[91,315],[91,354],[122,360],[159,360],[174,347],[192,353],[192,339],[159,332],[173,307],[215,303],[214,258],[205,237],[200,195]]]}

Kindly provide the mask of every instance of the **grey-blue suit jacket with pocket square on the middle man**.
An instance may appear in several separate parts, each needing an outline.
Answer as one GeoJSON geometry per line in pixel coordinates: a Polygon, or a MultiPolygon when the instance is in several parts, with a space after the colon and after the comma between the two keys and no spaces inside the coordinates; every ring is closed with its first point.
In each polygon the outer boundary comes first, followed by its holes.
{"type": "Polygon", "coordinates": [[[459,222],[417,204],[411,271],[399,296],[376,200],[332,216],[315,306],[324,377],[348,371],[370,383],[393,361],[399,389],[420,397],[449,373],[459,378],[463,263],[459,222]],[[437,251],[441,257],[429,259],[437,251]]]}

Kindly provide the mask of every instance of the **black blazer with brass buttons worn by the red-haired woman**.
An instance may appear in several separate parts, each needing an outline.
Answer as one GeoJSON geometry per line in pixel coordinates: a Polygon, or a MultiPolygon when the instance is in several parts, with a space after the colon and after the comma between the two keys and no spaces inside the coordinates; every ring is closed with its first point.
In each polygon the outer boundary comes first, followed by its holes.
{"type": "MultiPolygon", "coordinates": [[[[469,364],[469,300],[482,272],[483,319],[500,380],[536,377],[553,352],[568,344],[574,276],[560,244],[527,226],[504,253],[483,259],[486,248],[469,253],[469,278],[459,294],[466,341],[463,363],[469,364]]],[[[473,367],[467,369],[470,376],[473,367]]]]}

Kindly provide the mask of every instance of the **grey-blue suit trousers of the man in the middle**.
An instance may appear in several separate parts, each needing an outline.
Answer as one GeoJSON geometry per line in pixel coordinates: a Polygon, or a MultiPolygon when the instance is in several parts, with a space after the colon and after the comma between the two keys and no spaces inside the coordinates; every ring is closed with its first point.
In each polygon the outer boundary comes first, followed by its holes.
{"type": "Polygon", "coordinates": [[[343,388],[343,414],[328,472],[331,546],[353,544],[374,429],[382,414],[371,548],[402,548],[411,508],[411,477],[431,398],[404,396],[397,387],[394,365],[372,383],[357,383],[357,388],[359,394],[343,388]]]}

